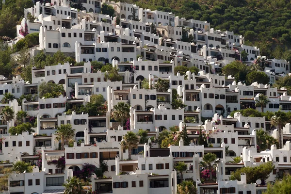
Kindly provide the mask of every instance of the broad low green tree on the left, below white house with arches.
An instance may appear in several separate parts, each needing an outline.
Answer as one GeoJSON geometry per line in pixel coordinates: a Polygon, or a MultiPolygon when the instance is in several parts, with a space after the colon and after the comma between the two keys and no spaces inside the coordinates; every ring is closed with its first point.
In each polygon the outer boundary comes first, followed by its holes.
{"type": "Polygon", "coordinates": [[[42,82],[38,86],[39,97],[52,98],[59,97],[65,92],[64,86],[62,84],[56,84],[52,82],[42,82]]]}

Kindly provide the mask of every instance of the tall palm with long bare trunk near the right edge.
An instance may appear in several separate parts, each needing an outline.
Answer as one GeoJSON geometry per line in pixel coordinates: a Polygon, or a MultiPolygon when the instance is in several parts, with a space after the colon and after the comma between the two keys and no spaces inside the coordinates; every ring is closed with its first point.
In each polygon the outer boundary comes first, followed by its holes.
{"type": "Polygon", "coordinates": [[[271,118],[271,125],[279,130],[279,146],[282,148],[282,127],[288,122],[287,114],[282,111],[276,111],[271,118]]]}

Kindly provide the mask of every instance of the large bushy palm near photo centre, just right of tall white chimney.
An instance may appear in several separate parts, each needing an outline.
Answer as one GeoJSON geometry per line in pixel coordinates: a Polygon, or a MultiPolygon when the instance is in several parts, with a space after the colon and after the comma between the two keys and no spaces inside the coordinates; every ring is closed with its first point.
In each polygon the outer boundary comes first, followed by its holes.
{"type": "Polygon", "coordinates": [[[129,118],[129,104],[118,102],[115,106],[113,106],[113,109],[113,118],[124,125],[126,119],[129,118]]]}

